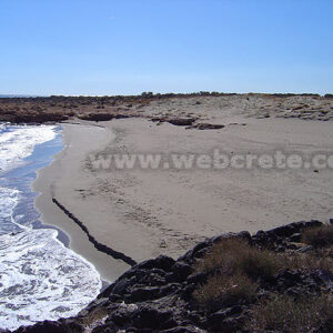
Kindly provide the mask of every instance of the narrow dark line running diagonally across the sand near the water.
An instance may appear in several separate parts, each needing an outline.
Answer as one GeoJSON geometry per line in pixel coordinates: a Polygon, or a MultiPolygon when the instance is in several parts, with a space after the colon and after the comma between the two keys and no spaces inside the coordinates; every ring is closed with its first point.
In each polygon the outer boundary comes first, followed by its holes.
{"type": "Polygon", "coordinates": [[[72,214],[64,205],[62,205],[56,198],[52,198],[52,202],[73,222],[75,222],[81,230],[88,235],[89,241],[94,245],[94,248],[103,253],[107,253],[111,255],[113,259],[120,259],[127,264],[134,266],[137,264],[137,261],[134,261],[132,258],[125,255],[122,252],[115,251],[104,244],[101,244],[98,242],[89,232],[88,228],[74,215],[72,214]]]}

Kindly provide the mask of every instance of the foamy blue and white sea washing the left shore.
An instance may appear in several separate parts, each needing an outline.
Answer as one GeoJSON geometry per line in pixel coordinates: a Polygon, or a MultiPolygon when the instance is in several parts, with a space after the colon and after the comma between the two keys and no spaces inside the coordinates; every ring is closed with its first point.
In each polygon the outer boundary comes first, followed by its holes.
{"type": "Polygon", "coordinates": [[[95,268],[43,225],[33,202],[38,170],[61,151],[61,127],[0,123],[0,327],[75,315],[99,294],[95,268]]]}

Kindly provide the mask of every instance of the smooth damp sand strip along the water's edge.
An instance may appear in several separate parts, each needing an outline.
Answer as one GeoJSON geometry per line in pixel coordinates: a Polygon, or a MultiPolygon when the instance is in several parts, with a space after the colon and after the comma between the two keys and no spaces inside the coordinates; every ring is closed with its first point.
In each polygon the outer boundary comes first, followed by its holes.
{"type": "MultiPolygon", "coordinates": [[[[70,238],[70,248],[93,263],[101,278],[108,282],[114,281],[129,269],[129,265],[98,251],[79,225],[52,202],[52,198],[54,196],[54,190],[61,186],[62,198],[70,200],[63,184],[80,171],[80,161],[84,158],[85,149],[97,149],[99,144],[107,144],[111,138],[109,132],[98,127],[65,125],[63,129],[64,149],[56,157],[51,165],[38,172],[33,183],[33,190],[40,192],[34,205],[41,213],[41,221],[64,231],[70,238]],[[80,134],[77,135],[77,132],[80,132],[80,134]]],[[[78,181],[80,182],[79,179],[78,181]]],[[[98,212],[95,216],[99,216],[98,212]]]]}

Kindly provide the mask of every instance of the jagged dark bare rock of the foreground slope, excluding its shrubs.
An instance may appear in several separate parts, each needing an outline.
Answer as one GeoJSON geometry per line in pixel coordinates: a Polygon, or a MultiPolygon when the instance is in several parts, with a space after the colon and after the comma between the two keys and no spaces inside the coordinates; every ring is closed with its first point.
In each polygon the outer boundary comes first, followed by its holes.
{"type": "MultiPolygon", "coordinates": [[[[195,262],[223,239],[246,240],[251,246],[278,252],[293,251],[304,230],[320,225],[320,221],[302,221],[254,235],[226,233],[196,244],[178,260],[164,255],[147,260],[121,275],[77,317],[46,321],[16,332],[249,332],[243,330],[249,303],[219,304],[210,310],[195,303],[193,291],[208,280],[208,273],[195,270],[195,262]]],[[[315,294],[330,290],[332,281],[330,273],[319,270],[284,270],[270,280],[259,279],[256,299],[272,291],[315,294]]]]}

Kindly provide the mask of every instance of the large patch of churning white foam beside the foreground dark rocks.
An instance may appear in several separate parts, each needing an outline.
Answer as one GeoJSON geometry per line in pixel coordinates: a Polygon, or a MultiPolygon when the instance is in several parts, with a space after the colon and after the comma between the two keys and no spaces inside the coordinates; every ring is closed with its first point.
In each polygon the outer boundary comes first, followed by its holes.
{"type": "Polygon", "coordinates": [[[75,315],[101,289],[94,266],[63,246],[51,229],[0,236],[1,326],[14,330],[75,315]]]}

